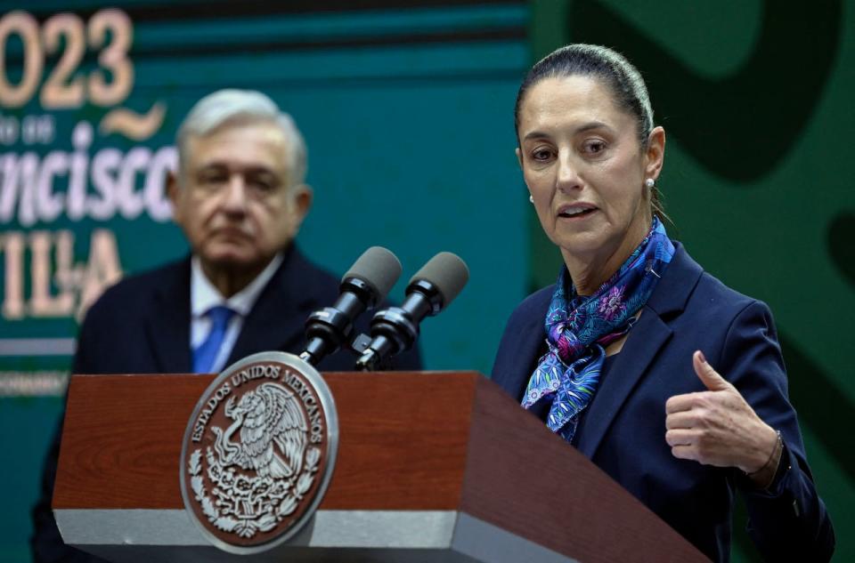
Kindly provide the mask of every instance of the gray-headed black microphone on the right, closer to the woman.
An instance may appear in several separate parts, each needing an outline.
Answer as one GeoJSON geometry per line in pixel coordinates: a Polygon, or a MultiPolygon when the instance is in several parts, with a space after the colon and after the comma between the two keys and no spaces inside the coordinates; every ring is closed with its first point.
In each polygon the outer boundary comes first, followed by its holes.
{"type": "Polygon", "coordinates": [[[457,254],[438,253],[410,278],[400,307],[378,311],[371,319],[371,343],[356,361],[357,369],[375,371],[387,358],[409,350],[419,337],[419,323],[448,307],[469,279],[457,254]]]}

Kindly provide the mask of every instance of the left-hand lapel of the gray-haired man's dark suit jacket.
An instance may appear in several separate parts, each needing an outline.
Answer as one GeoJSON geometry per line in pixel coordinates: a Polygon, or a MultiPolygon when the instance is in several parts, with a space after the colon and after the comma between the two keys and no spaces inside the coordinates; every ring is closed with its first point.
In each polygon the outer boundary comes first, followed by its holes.
{"type": "Polygon", "coordinates": [[[190,373],[190,259],[167,269],[145,319],[151,354],[163,373],[190,373]]]}

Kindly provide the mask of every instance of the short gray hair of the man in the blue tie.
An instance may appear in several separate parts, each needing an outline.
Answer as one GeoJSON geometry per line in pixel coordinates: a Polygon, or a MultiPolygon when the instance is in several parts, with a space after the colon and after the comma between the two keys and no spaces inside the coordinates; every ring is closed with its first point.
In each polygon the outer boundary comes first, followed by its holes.
{"type": "Polygon", "coordinates": [[[279,126],[285,137],[290,185],[302,184],[307,169],[303,135],[292,117],[281,111],[276,102],[255,90],[218,90],[196,102],[178,127],[176,141],[182,168],[180,172],[184,172],[183,166],[188,162],[188,141],[191,137],[204,137],[224,125],[255,122],[279,126]]]}

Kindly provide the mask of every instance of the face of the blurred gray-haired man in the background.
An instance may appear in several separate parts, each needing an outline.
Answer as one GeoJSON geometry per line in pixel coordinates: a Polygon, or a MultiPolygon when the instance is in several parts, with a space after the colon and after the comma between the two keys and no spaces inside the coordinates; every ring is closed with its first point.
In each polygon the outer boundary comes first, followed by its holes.
{"type": "Polygon", "coordinates": [[[191,137],[185,155],[169,197],[193,253],[209,276],[260,272],[297,235],[312,200],[308,187],[289,186],[281,130],[226,125],[191,137]]]}

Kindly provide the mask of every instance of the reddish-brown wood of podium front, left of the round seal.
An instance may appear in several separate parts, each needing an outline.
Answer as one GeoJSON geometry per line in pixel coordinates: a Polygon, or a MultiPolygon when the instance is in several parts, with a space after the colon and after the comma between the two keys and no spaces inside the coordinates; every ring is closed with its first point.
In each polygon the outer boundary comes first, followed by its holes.
{"type": "Polygon", "coordinates": [[[181,508],[181,440],[213,375],[75,375],[53,508],[181,508]]]}

